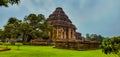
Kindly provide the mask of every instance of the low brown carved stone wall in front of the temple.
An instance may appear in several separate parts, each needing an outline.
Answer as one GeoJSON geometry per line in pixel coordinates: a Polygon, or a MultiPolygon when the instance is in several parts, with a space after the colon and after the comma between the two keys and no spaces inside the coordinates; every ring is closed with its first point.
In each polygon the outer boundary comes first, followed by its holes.
{"type": "Polygon", "coordinates": [[[100,48],[99,42],[85,42],[85,41],[67,41],[59,40],[55,42],[56,48],[74,49],[74,50],[89,50],[100,48]]]}

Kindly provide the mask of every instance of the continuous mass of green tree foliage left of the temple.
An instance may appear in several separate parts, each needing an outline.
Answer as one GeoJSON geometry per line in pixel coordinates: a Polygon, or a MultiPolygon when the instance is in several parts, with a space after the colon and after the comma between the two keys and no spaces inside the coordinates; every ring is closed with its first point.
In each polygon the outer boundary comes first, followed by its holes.
{"type": "Polygon", "coordinates": [[[48,23],[44,15],[29,14],[23,21],[14,17],[9,18],[2,33],[4,38],[23,36],[23,42],[29,42],[33,38],[50,38],[49,32],[51,31],[53,31],[53,26],[48,23]]]}

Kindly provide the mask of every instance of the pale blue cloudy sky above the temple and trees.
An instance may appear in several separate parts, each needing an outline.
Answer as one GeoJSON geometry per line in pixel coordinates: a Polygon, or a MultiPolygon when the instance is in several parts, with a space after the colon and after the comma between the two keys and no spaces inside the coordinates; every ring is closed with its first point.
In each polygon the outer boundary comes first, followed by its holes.
{"type": "Polygon", "coordinates": [[[0,28],[10,17],[23,20],[24,16],[35,13],[48,18],[56,7],[63,8],[83,36],[120,35],[120,0],[21,0],[19,5],[0,7],[0,28]]]}

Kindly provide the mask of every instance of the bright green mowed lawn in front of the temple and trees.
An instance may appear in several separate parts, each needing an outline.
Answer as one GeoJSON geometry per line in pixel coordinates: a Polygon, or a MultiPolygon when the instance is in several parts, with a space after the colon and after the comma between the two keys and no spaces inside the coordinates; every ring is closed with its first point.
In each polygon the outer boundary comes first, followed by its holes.
{"type": "Polygon", "coordinates": [[[106,55],[101,49],[76,51],[57,49],[53,46],[21,46],[20,50],[17,50],[16,46],[9,48],[9,51],[0,51],[0,57],[117,57],[113,54],[106,55]]]}

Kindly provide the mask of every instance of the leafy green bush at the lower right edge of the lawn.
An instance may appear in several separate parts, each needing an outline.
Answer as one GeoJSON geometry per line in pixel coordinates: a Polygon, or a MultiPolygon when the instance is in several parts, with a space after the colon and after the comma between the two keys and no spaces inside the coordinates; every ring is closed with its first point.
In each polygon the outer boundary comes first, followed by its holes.
{"type": "Polygon", "coordinates": [[[118,54],[120,56],[120,36],[107,38],[102,42],[102,50],[105,54],[118,54]]]}

